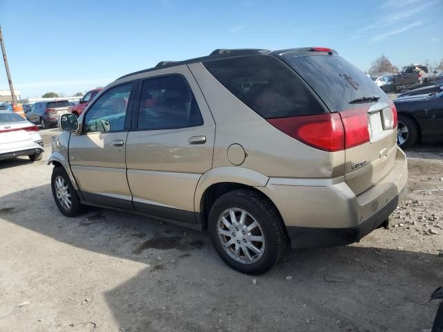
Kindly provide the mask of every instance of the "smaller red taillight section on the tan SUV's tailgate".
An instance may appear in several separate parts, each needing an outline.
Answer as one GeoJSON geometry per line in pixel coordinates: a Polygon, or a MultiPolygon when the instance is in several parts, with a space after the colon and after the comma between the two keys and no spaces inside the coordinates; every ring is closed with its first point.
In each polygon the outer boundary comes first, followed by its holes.
{"type": "Polygon", "coordinates": [[[368,109],[350,109],[340,116],[345,127],[345,149],[369,142],[368,109]]]}

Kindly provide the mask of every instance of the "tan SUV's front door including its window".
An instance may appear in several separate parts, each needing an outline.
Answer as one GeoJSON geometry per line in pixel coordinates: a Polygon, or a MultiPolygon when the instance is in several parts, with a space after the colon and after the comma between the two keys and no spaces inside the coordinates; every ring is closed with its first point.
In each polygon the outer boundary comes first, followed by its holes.
{"type": "Polygon", "coordinates": [[[126,178],[125,143],[134,83],[114,86],[82,119],[82,133],[71,134],[69,162],[86,201],[133,210],[126,178]]]}

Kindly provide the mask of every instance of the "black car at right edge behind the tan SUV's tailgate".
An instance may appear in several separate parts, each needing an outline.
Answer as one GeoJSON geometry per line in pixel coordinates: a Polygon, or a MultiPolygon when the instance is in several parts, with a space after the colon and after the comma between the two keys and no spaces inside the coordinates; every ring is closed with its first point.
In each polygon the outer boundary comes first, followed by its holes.
{"type": "Polygon", "coordinates": [[[402,148],[443,141],[443,91],[394,100],[398,111],[397,140],[402,148]]]}

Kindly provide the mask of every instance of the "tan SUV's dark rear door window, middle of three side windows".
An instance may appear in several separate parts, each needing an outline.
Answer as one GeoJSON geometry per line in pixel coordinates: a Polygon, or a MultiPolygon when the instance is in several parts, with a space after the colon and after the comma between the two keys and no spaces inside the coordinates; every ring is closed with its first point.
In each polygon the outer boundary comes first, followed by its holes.
{"type": "Polygon", "coordinates": [[[138,129],[177,129],[203,124],[194,95],[179,75],[143,81],[138,129]]]}

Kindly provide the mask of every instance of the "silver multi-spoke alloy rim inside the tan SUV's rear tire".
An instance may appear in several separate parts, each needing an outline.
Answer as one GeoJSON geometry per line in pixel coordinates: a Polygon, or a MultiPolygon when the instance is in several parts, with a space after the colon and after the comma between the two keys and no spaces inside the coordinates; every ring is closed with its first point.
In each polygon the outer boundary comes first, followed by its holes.
{"type": "Polygon", "coordinates": [[[217,221],[217,234],[224,251],[242,264],[258,261],[265,249],[260,223],[239,208],[224,210],[217,221]]]}

